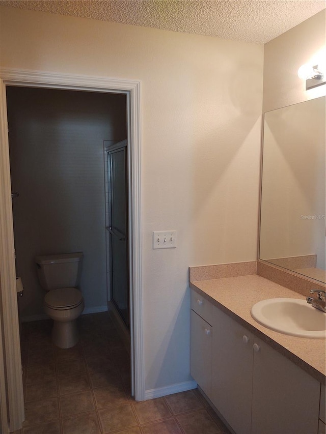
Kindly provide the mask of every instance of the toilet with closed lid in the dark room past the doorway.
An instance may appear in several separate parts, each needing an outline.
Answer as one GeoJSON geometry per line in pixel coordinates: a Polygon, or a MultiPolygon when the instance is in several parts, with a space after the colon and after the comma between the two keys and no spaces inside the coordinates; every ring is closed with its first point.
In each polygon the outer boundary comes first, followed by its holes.
{"type": "Polygon", "coordinates": [[[83,253],[64,253],[36,258],[40,285],[47,292],[44,312],[53,320],[52,341],[59,348],[71,348],[79,340],[76,319],[84,310],[84,298],[77,289],[83,253]]]}

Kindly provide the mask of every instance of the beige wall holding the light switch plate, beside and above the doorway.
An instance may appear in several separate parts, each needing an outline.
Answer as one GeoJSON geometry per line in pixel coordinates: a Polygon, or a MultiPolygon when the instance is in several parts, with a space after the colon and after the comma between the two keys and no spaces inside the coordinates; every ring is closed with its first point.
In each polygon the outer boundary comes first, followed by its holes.
{"type": "Polygon", "coordinates": [[[256,258],[263,47],[1,7],[1,66],[142,81],[146,389],[188,381],[188,266],[256,258]],[[176,249],[152,231],[176,229],[176,249]]]}

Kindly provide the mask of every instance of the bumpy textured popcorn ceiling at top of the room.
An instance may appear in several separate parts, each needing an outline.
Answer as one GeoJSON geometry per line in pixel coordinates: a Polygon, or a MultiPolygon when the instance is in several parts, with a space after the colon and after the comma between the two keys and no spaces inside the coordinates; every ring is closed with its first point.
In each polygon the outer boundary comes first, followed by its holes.
{"type": "Polygon", "coordinates": [[[264,44],[326,0],[10,0],[0,5],[264,44]]]}

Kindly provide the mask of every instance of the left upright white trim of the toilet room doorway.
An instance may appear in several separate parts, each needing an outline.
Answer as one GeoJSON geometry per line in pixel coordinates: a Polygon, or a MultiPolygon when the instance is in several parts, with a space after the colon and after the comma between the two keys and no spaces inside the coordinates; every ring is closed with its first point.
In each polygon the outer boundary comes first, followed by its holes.
{"type": "Polygon", "coordinates": [[[24,402],[12,224],[6,87],[3,82],[0,84],[0,286],[7,407],[10,430],[14,431],[21,427],[21,422],[24,420],[24,402]]]}

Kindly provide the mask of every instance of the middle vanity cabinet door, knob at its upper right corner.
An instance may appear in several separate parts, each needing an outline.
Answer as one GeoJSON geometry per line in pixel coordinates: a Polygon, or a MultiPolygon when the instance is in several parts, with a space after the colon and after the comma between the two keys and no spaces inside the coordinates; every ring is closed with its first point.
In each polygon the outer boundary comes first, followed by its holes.
{"type": "Polygon", "coordinates": [[[254,335],[215,306],[212,326],[211,401],[237,434],[250,434],[254,335]]]}

